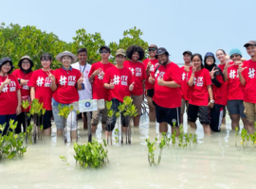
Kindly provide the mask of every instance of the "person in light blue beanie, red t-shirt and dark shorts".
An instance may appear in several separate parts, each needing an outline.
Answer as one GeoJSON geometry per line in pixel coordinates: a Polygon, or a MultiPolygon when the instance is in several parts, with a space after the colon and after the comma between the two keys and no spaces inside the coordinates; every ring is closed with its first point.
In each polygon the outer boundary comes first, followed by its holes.
{"type": "Polygon", "coordinates": [[[224,77],[227,81],[228,89],[228,110],[231,118],[232,129],[239,128],[240,117],[247,129],[247,115],[244,106],[244,86],[240,83],[237,73],[238,65],[242,63],[242,53],[239,49],[233,48],[230,53],[231,62],[224,67],[224,77]]]}

